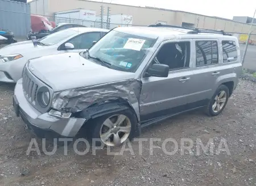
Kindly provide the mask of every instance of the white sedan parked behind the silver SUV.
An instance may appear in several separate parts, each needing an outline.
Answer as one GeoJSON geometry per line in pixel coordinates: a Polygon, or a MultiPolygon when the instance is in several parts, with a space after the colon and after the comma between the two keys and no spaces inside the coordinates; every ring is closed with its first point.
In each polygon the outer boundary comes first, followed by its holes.
{"type": "Polygon", "coordinates": [[[82,52],[109,30],[101,28],[68,28],[36,41],[10,44],[0,49],[0,82],[17,82],[29,59],[67,52],[82,52]]]}

